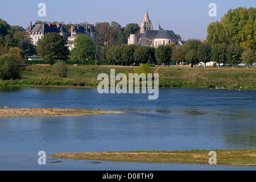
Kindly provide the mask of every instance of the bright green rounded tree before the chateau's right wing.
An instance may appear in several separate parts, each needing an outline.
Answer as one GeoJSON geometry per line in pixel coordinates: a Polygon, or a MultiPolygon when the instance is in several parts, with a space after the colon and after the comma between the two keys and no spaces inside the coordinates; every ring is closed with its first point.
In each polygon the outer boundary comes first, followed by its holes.
{"type": "Polygon", "coordinates": [[[82,65],[86,59],[92,60],[96,52],[93,40],[86,35],[78,35],[73,43],[74,48],[71,50],[72,60],[81,60],[82,65]]]}

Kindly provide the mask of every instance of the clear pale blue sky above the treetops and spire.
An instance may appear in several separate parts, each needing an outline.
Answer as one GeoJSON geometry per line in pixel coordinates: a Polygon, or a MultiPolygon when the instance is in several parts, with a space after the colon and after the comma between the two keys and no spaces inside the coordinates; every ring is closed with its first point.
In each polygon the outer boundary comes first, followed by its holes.
{"type": "Polygon", "coordinates": [[[255,5],[255,0],[0,0],[0,18],[24,28],[36,20],[73,24],[115,21],[125,26],[128,23],[141,25],[147,9],[154,30],[160,22],[162,28],[173,30],[183,39],[203,40],[208,24],[220,20],[229,9],[255,5]],[[38,16],[39,3],[46,4],[46,17],[38,16]],[[209,3],[216,3],[217,17],[208,15],[209,3]]]}

